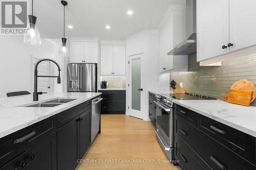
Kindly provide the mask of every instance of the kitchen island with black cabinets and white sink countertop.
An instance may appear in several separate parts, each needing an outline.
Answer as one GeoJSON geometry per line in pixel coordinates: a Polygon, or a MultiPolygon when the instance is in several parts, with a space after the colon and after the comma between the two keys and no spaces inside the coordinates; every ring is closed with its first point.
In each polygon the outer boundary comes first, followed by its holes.
{"type": "Polygon", "coordinates": [[[0,169],[75,169],[92,142],[91,105],[99,95],[50,93],[38,102],[31,94],[1,98],[0,169]],[[37,107],[41,103],[47,107],[37,107]]]}

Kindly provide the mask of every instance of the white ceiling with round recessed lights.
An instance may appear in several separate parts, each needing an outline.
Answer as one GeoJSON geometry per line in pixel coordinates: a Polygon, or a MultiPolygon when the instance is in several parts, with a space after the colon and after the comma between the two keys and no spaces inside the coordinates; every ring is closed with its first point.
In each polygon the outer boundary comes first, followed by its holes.
{"type": "MultiPolygon", "coordinates": [[[[185,0],[68,0],[66,35],[100,36],[123,40],[145,29],[158,28],[170,4],[185,0]],[[133,10],[128,16],[127,10],[133,10]],[[72,30],[67,26],[72,25],[72,30]],[[111,29],[106,30],[105,26],[111,29]]],[[[60,0],[34,0],[34,15],[41,38],[63,37],[63,6],[60,0]]]]}

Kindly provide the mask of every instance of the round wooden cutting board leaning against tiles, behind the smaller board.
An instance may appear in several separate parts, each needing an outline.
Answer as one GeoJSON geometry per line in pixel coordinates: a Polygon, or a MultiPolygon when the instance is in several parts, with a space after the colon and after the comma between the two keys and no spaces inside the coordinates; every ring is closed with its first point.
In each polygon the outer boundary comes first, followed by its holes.
{"type": "Polygon", "coordinates": [[[249,80],[239,80],[237,82],[234,82],[234,84],[230,87],[230,90],[252,91],[251,102],[253,102],[256,98],[255,86],[249,80]]]}

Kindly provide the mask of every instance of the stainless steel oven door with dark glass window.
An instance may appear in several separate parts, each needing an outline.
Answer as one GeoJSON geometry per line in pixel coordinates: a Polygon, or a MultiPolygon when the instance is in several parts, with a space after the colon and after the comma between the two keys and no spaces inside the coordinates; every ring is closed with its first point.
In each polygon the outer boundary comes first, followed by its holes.
{"type": "Polygon", "coordinates": [[[172,114],[172,108],[169,106],[165,105],[161,101],[157,101],[157,123],[156,123],[156,128],[157,131],[160,132],[161,134],[161,140],[163,142],[166,142],[170,148],[173,147],[173,142],[172,140],[172,129],[173,129],[173,114],[172,114]]]}

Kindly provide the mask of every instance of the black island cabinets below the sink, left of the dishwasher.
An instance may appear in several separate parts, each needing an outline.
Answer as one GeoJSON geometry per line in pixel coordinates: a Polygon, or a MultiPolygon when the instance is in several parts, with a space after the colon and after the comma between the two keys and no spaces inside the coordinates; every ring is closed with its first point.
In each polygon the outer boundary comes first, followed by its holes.
{"type": "Polygon", "coordinates": [[[0,138],[0,170],[75,169],[91,144],[91,101],[0,138]]]}

